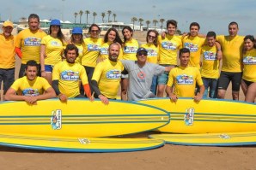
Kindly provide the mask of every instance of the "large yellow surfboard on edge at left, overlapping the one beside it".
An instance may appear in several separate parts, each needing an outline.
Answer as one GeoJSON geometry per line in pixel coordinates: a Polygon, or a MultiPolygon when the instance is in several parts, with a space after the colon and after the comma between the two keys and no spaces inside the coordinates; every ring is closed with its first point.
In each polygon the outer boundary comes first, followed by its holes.
{"type": "Polygon", "coordinates": [[[0,133],[51,136],[107,137],[144,132],[165,126],[169,114],[142,103],[70,99],[0,103],[0,133]]]}

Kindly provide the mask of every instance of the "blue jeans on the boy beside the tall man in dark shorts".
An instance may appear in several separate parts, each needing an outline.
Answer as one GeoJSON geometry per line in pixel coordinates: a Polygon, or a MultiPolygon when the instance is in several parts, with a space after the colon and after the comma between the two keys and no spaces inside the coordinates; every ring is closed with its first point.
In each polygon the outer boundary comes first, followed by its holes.
{"type": "Polygon", "coordinates": [[[216,98],[216,88],[218,79],[202,78],[204,82],[204,98],[208,97],[208,88],[210,88],[209,97],[216,98]]]}

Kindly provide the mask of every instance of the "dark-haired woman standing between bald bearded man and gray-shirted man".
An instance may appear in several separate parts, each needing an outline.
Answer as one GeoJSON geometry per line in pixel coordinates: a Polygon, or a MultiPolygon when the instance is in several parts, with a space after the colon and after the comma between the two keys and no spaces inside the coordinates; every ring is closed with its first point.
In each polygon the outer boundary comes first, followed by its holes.
{"type": "MultiPolygon", "coordinates": [[[[124,60],[137,61],[137,49],[139,44],[136,39],[132,38],[133,31],[130,26],[125,26],[122,30],[124,36],[124,44],[122,45],[124,60]]],[[[121,99],[127,100],[128,74],[122,74],[121,79],[121,99]]]]}

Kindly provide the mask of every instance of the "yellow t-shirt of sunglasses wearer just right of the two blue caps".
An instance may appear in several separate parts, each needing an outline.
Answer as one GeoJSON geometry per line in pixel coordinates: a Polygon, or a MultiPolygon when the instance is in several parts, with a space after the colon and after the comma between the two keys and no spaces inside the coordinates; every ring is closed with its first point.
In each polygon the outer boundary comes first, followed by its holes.
{"type": "Polygon", "coordinates": [[[97,59],[100,55],[102,38],[84,38],[87,50],[82,56],[82,66],[96,67],[97,59]]]}

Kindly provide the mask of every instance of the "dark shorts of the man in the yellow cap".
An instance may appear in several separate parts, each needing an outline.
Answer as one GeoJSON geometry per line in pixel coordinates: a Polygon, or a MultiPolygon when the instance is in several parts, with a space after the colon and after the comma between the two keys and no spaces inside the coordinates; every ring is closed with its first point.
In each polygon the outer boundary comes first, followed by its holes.
{"type": "Polygon", "coordinates": [[[15,81],[15,68],[3,69],[0,68],[0,89],[2,88],[3,82],[3,94],[5,95],[6,91],[15,81]]]}

